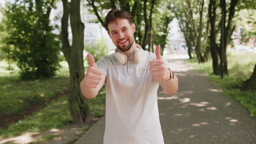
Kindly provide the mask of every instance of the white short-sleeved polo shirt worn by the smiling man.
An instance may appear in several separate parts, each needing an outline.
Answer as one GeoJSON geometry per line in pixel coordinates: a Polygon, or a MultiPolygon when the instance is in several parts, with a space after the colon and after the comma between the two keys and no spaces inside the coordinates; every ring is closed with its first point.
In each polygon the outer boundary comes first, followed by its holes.
{"type": "Polygon", "coordinates": [[[114,53],[97,61],[98,69],[106,75],[104,144],[164,144],[158,112],[159,82],[152,79],[149,70],[155,53],[142,50],[139,63],[133,56],[134,52],[124,65],[114,53]]]}

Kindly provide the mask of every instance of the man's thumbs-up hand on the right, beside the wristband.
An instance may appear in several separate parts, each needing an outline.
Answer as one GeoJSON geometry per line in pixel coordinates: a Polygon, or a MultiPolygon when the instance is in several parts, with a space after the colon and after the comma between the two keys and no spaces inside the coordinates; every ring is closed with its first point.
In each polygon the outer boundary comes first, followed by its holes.
{"type": "Polygon", "coordinates": [[[160,45],[156,46],[155,55],[156,59],[149,63],[149,70],[151,71],[153,79],[159,82],[170,80],[170,70],[166,67],[164,61],[162,61],[160,45]]]}

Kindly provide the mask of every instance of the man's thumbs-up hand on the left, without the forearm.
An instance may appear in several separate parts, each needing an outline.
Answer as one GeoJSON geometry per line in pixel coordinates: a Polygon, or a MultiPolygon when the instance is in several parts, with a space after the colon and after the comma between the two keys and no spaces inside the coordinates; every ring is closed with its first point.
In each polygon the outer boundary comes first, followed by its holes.
{"type": "Polygon", "coordinates": [[[84,85],[85,87],[96,88],[100,85],[102,72],[97,68],[94,57],[92,57],[91,53],[88,53],[87,58],[90,63],[90,67],[85,74],[84,85]]]}

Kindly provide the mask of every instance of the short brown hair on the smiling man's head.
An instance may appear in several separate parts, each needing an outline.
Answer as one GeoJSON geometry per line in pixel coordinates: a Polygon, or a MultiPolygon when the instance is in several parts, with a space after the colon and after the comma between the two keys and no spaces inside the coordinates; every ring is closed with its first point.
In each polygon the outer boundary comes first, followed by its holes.
{"type": "Polygon", "coordinates": [[[106,15],[106,19],[103,24],[103,26],[107,29],[107,31],[108,31],[108,24],[110,22],[116,21],[118,18],[127,19],[130,24],[133,23],[133,16],[130,13],[128,13],[125,10],[112,9],[106,15]]]}

